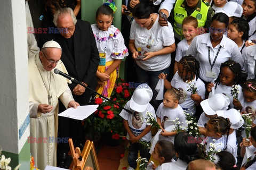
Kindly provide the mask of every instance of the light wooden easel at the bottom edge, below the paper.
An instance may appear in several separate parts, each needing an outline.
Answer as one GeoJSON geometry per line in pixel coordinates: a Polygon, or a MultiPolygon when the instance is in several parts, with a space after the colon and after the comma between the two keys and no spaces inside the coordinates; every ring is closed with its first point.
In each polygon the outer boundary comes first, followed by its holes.
{"type": "Polygon", "coordinates": [[[84,170],[84,168],[86,168],[86,161],[89,156],[91,159],[93,159],[93,170],[100,170],[98,158],[92,141],[86,140],[82,153],[80,148],[77,147],[76,149],[74,149],[72,139],[68,139],[68,142],[74,163],[73,170],[84,170]]]}

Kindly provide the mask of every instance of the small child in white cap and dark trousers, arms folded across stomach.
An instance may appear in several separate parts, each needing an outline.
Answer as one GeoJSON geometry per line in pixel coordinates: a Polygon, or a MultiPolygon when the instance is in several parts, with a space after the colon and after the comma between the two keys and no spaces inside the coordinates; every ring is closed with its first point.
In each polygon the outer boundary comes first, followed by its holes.
{"type": "MultiPolygon", "coordinates": [[[[141,158],[149,160],[149,148],[144,147],[141,142],[147,142],[150,146],[151,126],[147,120],[149,113],[155,118],[154,107],[149,104],[153,96],[153,91],[148,84],[140,84],[133,92],[131,100],[127,101],[124,108],[129,109],[136,114],[130,114],[125,110],[119,114],[123,117],[124,128],[127,131],[127,139],[130,141],[130,152],[128,155],[129,168],[136,169],[138,152],[140,151],[141,158]],[[141,141],[138,143],[138,141],[141,141]]],[[[145,164],[146,167],[146,164],[145,164]]]]}

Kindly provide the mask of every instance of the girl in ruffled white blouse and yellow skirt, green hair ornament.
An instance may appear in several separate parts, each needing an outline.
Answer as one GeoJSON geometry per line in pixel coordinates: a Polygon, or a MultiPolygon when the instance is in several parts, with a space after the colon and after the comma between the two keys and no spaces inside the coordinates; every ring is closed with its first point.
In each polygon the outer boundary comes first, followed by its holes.
{"type": "Polygon", "coordinates": [[[111,96],[118,77],[119,64],[128,55],[122,33],[111,25],[115,12],[116,6],[113,2],[104,3],[96,12],[97,23],[91,25],[100,54],[100,63],[96,73],[98,78],[96,91],[108,98],[111,96]]]}

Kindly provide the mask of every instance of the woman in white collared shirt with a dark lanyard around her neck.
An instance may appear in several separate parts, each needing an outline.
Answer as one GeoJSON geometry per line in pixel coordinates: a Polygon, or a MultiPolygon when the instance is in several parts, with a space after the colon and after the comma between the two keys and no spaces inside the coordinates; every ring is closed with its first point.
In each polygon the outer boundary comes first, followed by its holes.
{"type": "Polygon", "coordinates": [[[200,78],[205,85],[217,78],[221,63],[234,60],[243,67],[242,55],[233,40],[223,36],[227,31],[229,18],[217,13],[212,18],[210,33],[196,36],[190,44],[187,55],[195,56],[200,63],[200,78]]]}

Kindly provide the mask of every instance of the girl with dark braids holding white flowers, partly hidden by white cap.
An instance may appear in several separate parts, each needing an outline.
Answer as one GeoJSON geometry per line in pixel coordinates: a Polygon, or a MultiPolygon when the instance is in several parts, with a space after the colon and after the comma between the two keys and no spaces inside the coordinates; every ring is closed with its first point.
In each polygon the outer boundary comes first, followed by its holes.
{"type": "Polygon", "coordinates": [[[220,73],[216,80],[207,85],[209,98],[212,94],[225,94],[230,99],[230,108],[242,110],[243,94],[238,84],[241,79],[241,65],[233,60],[221,64],[220,73]]]}

